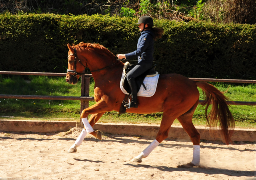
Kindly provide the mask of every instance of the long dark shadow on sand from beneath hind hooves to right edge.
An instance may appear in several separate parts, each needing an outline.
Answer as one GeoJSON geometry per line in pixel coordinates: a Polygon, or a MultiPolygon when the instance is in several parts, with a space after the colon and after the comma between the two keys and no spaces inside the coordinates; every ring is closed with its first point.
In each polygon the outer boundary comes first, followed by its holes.
{"type": "MultiPolygon", "coordinates": [[[[216,174],[225,174],[227,176],[235,176],[235,177],[241,177],[241,176],[246,176],[246,177],[253,177],[250,180],[253,180],[254,177],[256,176],[256,173],[254,171],[243,171],[243,170],[228,170],[228,169],[220,169],[220,168],[208,168],[205,166],[198,166],[196,168],[173,168],[173,167],[167,167],[167,166],[153,166],[153,165],[148,165],[148,164],[124,164],[124,166],[132,166],[134,168],[156,168],[160,171],[163,172],[174,172],[174,171],[188,171],[188,172],[195,172],[195,173],[204,173],[208,175],[216,175],[216,174]]],[[[255,180],[255,179],[254,179],[255,180]]]]}

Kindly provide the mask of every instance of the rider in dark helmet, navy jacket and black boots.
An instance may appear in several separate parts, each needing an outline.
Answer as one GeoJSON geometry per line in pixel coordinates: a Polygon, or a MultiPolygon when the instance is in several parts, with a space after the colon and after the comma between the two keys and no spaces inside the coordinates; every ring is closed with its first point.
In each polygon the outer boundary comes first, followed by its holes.
{"type": "Polygon", "coordinates": [[[140,76],[146,70],[149,70],[153,64],[154,40],[161,38],[163,34],[162,28],[153,28],[154,22],[150,16],[142,16],[138,20],[138,27],[141,36],[138,40],[137,50],[128,54],[117,54],[119,59],[131,59],[138,57],[138,64],[130,70],[126,76],[128,84],[131,88],[132,100],[129,104],[124,105],[128,108],[138,108],[137,93],[138,87],[135,78],[140,76]]]}

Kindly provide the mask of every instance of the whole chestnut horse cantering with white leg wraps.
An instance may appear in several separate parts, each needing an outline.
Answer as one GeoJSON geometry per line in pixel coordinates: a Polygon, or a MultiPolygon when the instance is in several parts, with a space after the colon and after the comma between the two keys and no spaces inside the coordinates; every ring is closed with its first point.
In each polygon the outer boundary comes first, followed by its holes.
{"type": "MultiPolygon", "coordinates": [[[[68,46],[68,70],[66,82],[76,84],[85,68],[89,68],[94,78],[94,100],[96,104],[82,110],[81,118],[84,123],[78,139],[68,150],[77,152],[85,136],[90,133],[101,139],[101,134],[93,130],[94,124],[105,112],[119,111],[125,94],[120,89],[120,80],[124,63],[117,60],[107,48],[100,44],[79,43],[68,46]],[[89,121],[87,116],[90,116],[89,121]]],[[[213,130],[219,124],[223,141],[232,143],[234,118],[229,110],[228,98],[214,86],[206,82],[196,82],[180,74],[160,74],[156,92],[152,97],[138,97],[138,108],[126,110],[129,113],[150,114],[163,112],[160,129],[155,140],[142,153],[132,159],[142,162],[158,144],[168,137],[168,132],[175,119],[178,119],[193,143],[193,158],[191,162],[178,167],[192,168],[200,163],[200,134],[192,123],[192,116],[199,102],[199,91],[204,93],[203,105],[206,105],[206,119],[213,130]],[[207,114],[209,105],[212,104],[207,114]]]]}

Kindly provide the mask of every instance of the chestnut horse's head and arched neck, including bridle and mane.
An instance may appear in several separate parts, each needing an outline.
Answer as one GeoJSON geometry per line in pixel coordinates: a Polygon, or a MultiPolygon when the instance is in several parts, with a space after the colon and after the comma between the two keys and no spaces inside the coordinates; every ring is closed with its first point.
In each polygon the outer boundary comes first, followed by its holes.
{"type": "Polygon", "coordinates": [[[67,45],[69,51],[66,82],[69,84],[76,84],[78,78],[85,73],[85,68],[89,68],[92,74],[104,74],[111,70],[114,64],[122,64],[116,60],[114,54],[100,44],[80,42],[76,46],[67,45]]]}

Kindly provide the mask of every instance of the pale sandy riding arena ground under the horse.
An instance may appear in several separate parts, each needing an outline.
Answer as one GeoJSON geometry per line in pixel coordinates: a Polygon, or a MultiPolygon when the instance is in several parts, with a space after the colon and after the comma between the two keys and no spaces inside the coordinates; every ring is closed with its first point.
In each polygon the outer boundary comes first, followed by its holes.
{"type": "Polygon", "coordinates": [[[61,133],[0,132],[0,180],[256,180],[256,142],[201,142],[200,167],[177,168],[192,160],[192,142],[166,140],[132,162],[152,140],[104,134],[68,149],[81,128],[61,133]]]}

